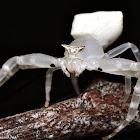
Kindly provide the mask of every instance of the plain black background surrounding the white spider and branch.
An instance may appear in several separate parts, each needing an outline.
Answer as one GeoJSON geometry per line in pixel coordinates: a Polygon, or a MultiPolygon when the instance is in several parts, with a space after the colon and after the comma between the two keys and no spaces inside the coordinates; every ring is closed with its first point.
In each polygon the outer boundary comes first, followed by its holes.
{"type": "MultiPolygon", "coordinates": [[[[112,44],[110,50],[125,42],[140,46],[140,7],[136,1],[46,1],[46,3],[5,3],[0,4],[0,65],[12,56],[44,53],[63,57],[61,44],[69,44],[75,14],[95,11],[122,11],[124,31],[112,44]]],[[[106,51],[107,51],[106,50],[106,51]]],[[[120,57],[134,59],[130,50],[120,57]]],[[[40,108],[45,102],[46,69],[19,71],[0,88],[0,117],[14,115],[40,108]]],[[[124,82],[121,76],[85,71],[80,76],[80,89],[83,91],[95,75],[110,81],[124,82]]],[[[136,79],[133,79],[135,85],[136,79]]],[[[56,71],[53,78],[51,103],[74,97],[70,79],[62,71],[56,71]]],[[[136,132],[120,133],[115,139],[140,139],[136,132]],[[129,138],[128,138],[129,137],[129,138]]],[[[113,139],[112,139],[113,140],[113,139]]]]}

